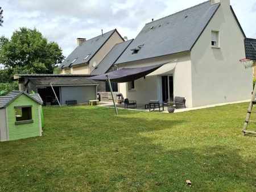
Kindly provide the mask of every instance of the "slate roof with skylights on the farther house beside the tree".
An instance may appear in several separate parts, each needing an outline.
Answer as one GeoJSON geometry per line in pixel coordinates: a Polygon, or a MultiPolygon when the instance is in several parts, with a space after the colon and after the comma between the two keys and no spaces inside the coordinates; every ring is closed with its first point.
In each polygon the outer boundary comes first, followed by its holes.
{"type": "Polygon", "coordinates": [[[115,31],[116,30],[112,30],[106,32],[103,34],[103,36],[99,35],[84,41],[84,43],[82,43],[80,46],[77,46],[76,49],[67,57],[67,59],[63,61],[63,63],[60,65],[60,68],[88,63],[115,31]],[[89,57],[84,60],[87,55],[89,55],[89,57]],[[71,64],[75,59],[76,61],[71,64]]]}

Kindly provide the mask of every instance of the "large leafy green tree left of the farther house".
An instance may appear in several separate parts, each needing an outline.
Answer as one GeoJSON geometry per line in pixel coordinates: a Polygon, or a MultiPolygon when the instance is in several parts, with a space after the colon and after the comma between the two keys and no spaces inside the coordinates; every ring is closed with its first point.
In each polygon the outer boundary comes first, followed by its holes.
{"type": "Polygon", "coordinates": [[[36,29],[23,27],[11,39],[0,38],[0,63],[13,73],[53,73],[63,59],[59,45],[36,29]]]}

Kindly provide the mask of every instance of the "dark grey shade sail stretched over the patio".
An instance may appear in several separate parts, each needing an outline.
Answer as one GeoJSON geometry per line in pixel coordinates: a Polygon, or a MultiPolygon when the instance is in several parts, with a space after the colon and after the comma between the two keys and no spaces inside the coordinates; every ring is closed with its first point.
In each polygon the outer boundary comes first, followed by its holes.
{"type": "Polygon", "coordinates": [[[110,80],[113,82],[130,82],[145,77],[147,74],[154,72],[156,69],[160,68],[163,65],[164,64],[144,66],[141,68],[122,68],[119,70],[114,70],[113,72],[101,74],[100,76],[89,77],[88,79],[106,81],[106,76],[108,75],[110,80]]]}

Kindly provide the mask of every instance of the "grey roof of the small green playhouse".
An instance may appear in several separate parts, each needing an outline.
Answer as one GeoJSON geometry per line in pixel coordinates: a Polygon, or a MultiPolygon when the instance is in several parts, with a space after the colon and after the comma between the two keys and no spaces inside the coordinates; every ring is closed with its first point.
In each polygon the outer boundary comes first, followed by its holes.
{"type": "Polygon", "coordinates": [[[9,106],[11,102],[13,102],[16,98],[20,95],[26,95],[27,97],[31,98],[35,102],[39,103],[39,105],[43,104],[42,98],[39,94],[27,94],[24,91],[11,91],[9,94],[0,97],[0,108],[6,108],[9,106]]]}

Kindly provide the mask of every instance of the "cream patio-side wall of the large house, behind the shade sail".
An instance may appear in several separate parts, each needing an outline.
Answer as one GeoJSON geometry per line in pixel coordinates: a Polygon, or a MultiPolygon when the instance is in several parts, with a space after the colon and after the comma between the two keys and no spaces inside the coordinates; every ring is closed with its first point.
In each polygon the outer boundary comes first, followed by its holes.
{"type": "MultiPolygon", "coordinates": [[[[179,53],[146,59],[141,61],[127,62],[119,64],[118,68],[136,68],[142,66],[158,65],[165,62],[177,63],[175,70],[163,74],[163,76],[174,76],[174,97],[186,98],[186,105],[192,107],[192,87],[191,87],[191,60],[188,53],[179,53]],[[177,60],[177,61],[175,61],[177,60]]],[[[125,98],[136,100],[139,104],[148,103],[150,100],[162,101],[162,77],[150,76],[135,81],[135,90],[129,91],[127,84],[119,84],[119,92],[125,98]]]]}

